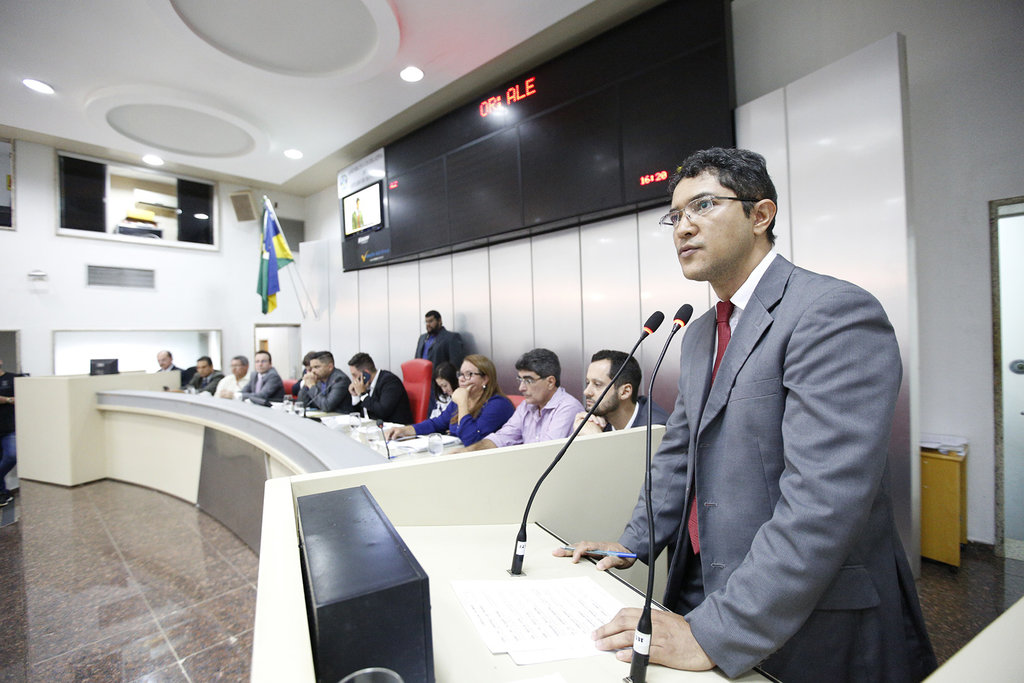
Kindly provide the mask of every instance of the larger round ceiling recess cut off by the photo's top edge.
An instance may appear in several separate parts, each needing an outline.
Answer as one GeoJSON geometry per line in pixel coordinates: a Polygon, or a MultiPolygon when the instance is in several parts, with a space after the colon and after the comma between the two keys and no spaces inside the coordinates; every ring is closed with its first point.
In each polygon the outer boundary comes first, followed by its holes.
{"type": "Polygon", "coordinates": [[[360,68],[379,48],[379,0],[170,0],[204,41],[236,59],[293,76],[360,68]],[[374,6],[372,12],[368,7],[374,6]]]}

